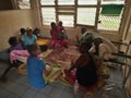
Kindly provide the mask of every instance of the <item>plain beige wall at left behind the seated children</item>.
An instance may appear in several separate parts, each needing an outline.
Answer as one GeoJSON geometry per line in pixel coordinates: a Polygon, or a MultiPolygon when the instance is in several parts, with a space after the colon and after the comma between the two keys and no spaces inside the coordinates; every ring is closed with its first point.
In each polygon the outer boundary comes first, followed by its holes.
{"type": "Polygon", "coordinates": [[[32,10],[0,11],[0,50],[9,47],[10,36],[19,35],[21,27],[34,27],[32,10]]]}

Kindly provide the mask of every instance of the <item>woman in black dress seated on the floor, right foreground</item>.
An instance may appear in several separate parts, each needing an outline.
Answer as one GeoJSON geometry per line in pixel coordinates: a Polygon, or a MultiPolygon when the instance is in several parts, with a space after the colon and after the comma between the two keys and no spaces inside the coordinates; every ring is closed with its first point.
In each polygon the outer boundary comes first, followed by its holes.
{"type": "Polygon", "coordinates": [[[74,84],[75,81],[73,79],[76,79],[80,88],[84,89],[90,89],[94,87],[97,83],[96,65],[93,57],[88,52],[88,49],[90,48],[86,46],[86,44],[83,42],[79,47],[81,56],[68,71],[66,70],[66,75],[70,83],[74,84]],[[71,79],[73,76],[71,76],[70,72],[74,69],[76,69],[75,78],[71,79]]]}

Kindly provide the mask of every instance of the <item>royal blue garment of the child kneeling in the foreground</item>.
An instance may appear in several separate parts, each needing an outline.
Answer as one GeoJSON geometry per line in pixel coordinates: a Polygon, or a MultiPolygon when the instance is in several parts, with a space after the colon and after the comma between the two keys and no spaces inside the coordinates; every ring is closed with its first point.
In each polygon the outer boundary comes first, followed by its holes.
{"type": "Polygon", "coordinates": [[[28,57],[27,59],[27,71],[29,84],[35,88],[43,88],[45,86],[45,79],[43,72],[46,64],[43,60],[37,57],[28,57]]]}

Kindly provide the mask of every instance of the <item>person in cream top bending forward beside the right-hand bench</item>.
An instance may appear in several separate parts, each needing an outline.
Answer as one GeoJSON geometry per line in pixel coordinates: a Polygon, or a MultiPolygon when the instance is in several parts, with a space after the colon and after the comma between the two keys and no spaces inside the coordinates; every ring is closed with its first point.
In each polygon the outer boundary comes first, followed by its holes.
{"type": "Polygon", "coordinates": [[[105,39],[104,37],[96,37],[94,39],[94,46],[90,49],[90,52],[94,52],[96,56],[99,57],[99,59],[115,59],[114,56],[106,52],[118,52],[117,47],[109,41],[108,39],[105,39]]]}

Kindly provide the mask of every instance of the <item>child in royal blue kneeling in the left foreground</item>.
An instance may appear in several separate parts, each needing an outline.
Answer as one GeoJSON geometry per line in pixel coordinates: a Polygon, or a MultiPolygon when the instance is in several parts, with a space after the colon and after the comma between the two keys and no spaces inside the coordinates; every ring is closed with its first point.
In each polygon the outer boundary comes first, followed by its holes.
{"type": "Polygon", "coordinates": [[[45,87],[46,83],[43,77],[43,72],[47,75],[46,64],[37,56],[40,53],[40,49],[37,45],[28,45],[27,51],[29,57],[27,58],[27,72],[29,84],[35,88],[45,87]]]}

